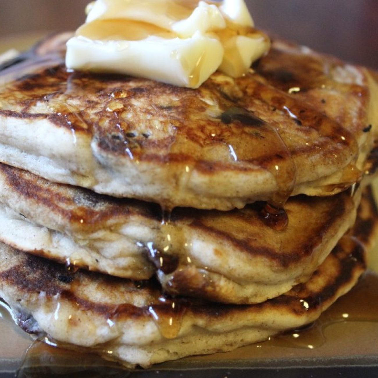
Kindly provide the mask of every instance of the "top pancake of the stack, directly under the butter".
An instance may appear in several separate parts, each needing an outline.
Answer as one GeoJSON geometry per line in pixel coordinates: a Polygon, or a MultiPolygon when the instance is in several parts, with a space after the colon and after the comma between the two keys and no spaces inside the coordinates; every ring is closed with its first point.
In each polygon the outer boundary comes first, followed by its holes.
{"type": "Polygon", "coordinates": [[[197,90],[68,72],[47,50],[2,71],[0,161],[51,181],[165,209],[282,207],[351,186],[371,149],[376,82],[307,48],[276,41],[255,71],[197,90]]]}

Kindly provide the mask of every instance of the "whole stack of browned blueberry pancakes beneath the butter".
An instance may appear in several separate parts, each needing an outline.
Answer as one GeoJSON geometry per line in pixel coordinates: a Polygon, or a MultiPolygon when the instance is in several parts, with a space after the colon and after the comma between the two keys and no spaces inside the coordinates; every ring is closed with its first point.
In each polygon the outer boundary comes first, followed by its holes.
{"type": "Polygon", "coordinates": [[[0,296],[126,366],[316,321],[366,269],[378,84],[273,41],[193,90],[68,72],[66,35],[0,72],[0,296]]]}

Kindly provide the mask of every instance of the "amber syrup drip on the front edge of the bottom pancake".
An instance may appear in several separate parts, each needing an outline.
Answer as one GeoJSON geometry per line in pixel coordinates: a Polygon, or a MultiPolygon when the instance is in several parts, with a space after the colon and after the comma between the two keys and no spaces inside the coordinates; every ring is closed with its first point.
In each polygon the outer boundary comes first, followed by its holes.
{"type": "Polygon", "coordinates": [[[159,298],[159,302],[157,305],[149,306],[147,313],[164,338],[174,339],[180,333],[186,307],[163,296],[159,298]]]}

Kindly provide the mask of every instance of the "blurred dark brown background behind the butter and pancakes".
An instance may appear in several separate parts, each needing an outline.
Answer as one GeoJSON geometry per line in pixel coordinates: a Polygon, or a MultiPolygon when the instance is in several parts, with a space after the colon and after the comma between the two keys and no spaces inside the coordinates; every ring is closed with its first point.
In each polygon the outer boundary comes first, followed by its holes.
{"type": "MultiPolygon", "coordinates": [[[[89,0],[0,0],[9,35],[75,29],[89,0]]],[[[378,0],[246,0],[257,26],[378,69],[378,0]]],[[[42,35],[41,33],[38,33],[42,35]]]]}

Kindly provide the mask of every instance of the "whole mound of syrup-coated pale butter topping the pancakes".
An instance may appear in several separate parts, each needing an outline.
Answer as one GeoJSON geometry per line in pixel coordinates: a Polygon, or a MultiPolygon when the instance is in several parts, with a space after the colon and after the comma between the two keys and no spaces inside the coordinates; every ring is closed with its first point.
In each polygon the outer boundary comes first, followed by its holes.
{"type": "Polygon", "coordinates": [[[67,42],[69,69],[198,88],[220,70],[245,74],[270,48],[244,0],[97,0],[67,42]]]}

